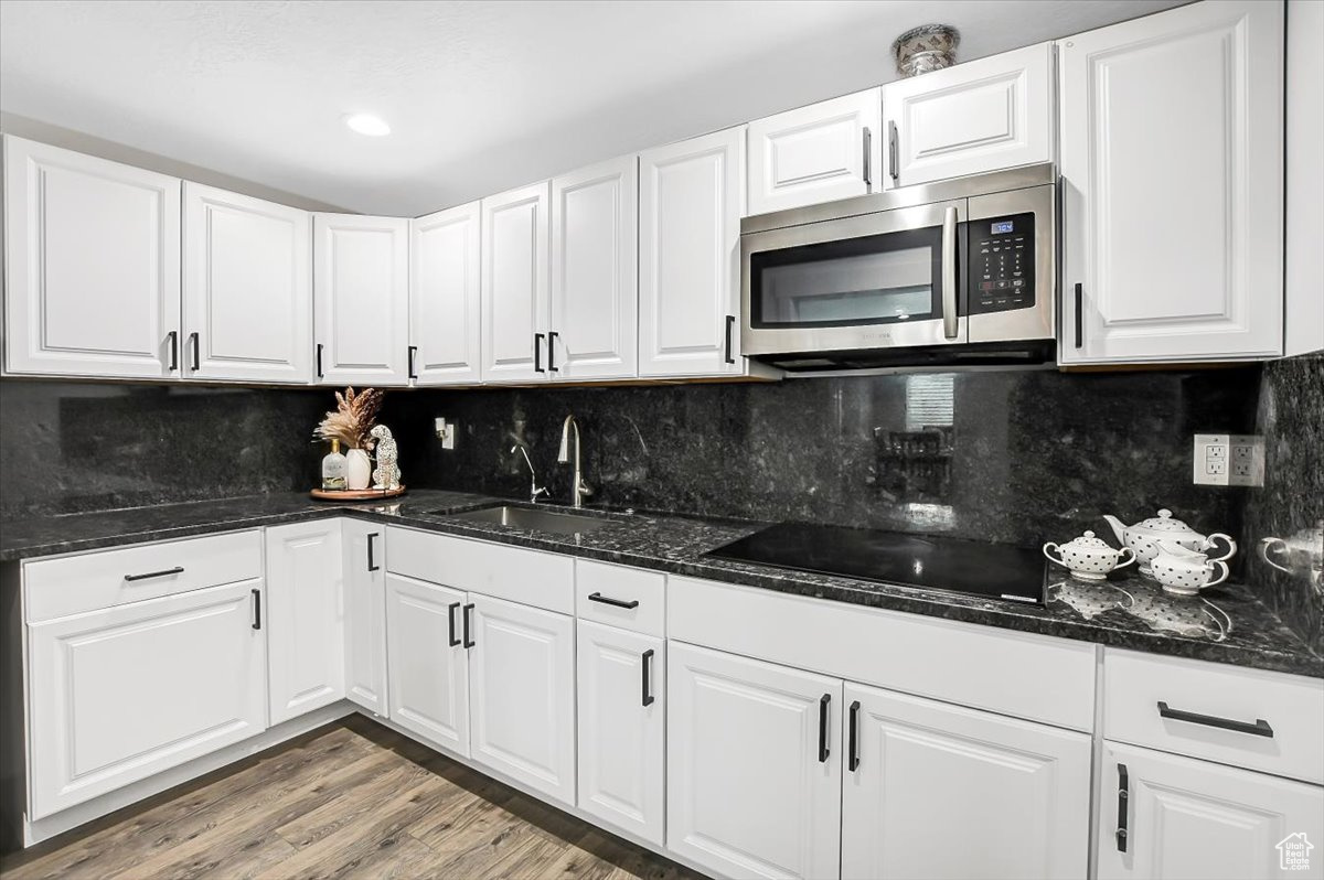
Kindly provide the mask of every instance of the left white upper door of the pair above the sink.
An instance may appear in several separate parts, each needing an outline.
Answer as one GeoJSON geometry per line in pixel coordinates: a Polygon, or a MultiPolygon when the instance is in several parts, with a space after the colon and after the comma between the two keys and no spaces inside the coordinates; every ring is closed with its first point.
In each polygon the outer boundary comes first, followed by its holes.
{"type": "Polygon", "coordinates": [[[548,184],[483,198],[483,381],[543,381],[549,315],[548,184]]]}

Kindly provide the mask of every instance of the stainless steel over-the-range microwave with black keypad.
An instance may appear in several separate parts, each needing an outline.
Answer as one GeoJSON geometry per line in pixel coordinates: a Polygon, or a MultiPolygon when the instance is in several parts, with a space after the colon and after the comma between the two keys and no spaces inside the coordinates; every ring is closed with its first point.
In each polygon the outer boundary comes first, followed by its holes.
{"type": "Polygon", "coordinates": [[[744,355],[789,371],[1055,359],[1057,172],[747,217],[744,355]]]}

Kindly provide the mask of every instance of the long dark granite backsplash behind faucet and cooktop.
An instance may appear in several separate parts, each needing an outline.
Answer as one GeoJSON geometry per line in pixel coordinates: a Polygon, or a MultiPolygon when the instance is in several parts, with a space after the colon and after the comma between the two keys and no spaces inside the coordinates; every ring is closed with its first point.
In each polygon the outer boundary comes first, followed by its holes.
{"type": "MultiPolygon", "coordinates": [[[[388,396],[406,484],[552,498],[561,421],[584,437],[593,504],[804,520],[1038,545],[1099,515],[1170,507],[1237,533],[1245,490],[1192,486],[1192,434],[1254,425],[1259,368],[965,372],[780,384],[430,390],[388,396]],[[458,421],[454,451],[432,419],[458,421]]],[[[1108,536],[1111,537],[1111,535],[1108,536]]]]}

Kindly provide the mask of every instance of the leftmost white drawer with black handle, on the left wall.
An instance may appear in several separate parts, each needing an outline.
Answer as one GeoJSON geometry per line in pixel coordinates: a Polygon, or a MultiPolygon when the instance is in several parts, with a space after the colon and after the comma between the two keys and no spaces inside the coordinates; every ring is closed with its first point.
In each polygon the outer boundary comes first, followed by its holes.
{"type": "Polygon", "coordinates": [[[262,576],[262,535],[229,532],[26,562],[29,623],[262,576]]]}

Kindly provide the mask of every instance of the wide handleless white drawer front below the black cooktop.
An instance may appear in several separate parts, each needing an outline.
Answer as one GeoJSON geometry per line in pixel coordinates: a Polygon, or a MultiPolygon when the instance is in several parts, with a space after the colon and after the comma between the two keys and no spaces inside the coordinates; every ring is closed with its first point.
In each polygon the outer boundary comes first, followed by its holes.
{"type": "Polygon", "coordinates": [[[1095,647],[749,586],[667,578],[667,635],[1075,730],[1094,728],[1095,647]]]}

